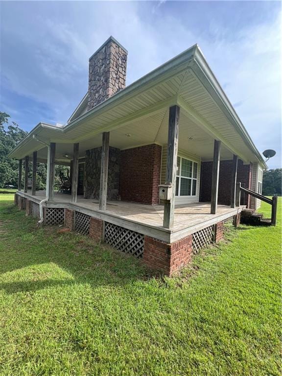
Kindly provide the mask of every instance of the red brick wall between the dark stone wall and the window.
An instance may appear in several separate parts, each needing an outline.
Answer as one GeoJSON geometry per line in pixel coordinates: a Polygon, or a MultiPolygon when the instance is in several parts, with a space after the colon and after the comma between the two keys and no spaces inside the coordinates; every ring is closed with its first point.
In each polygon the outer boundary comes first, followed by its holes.
{"type": "Polygon", "coordinates": [[[152,144],[122,150],[120,157],[121,200],[158,204],[162,147],[152,144]]]}

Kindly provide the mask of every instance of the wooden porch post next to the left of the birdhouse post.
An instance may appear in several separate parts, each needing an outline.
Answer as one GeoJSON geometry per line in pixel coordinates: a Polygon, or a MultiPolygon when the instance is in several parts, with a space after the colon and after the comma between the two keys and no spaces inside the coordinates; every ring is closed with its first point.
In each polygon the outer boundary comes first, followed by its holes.
{"type": "Polygon", "coordinates": [[[110,132],[103,132],[103,143],[102,143],[102,152],[101,152],[100,195],[99,195],[99,210],[103,210],[103,211],[106,210],[106,206],[107,206],[109,142],[110,142],[110,132]]]}

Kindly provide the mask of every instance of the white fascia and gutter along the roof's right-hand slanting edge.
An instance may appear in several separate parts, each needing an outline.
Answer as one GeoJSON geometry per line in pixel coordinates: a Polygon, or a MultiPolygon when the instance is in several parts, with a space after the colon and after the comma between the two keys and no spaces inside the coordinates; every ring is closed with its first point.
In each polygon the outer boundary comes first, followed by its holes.
{"type": "Polygon", "coordinates": [[[264,167],[267,167],[254,142],[252,141],[250,135],[248,134],[246,128],[244,127],[240,118],[236,114],[235,109],[230,103],[227,95],[224,93],[219,82],[212,73],[211,68],[209,67],[209,64],[207,63],[199,47],[197,47],[196,49],[194,62],[191,68],[198,77],[198,79],[201,81],[201,83],[204,85],[204,87],[207,89],[207,91],[211,94],[215,103],[219,106],[219,108],[223,111],[225,116],[233,124],[236,131],[242,137],[248,148],[253,152],[258,161],[261,164],[263,164],[264,167]]]}

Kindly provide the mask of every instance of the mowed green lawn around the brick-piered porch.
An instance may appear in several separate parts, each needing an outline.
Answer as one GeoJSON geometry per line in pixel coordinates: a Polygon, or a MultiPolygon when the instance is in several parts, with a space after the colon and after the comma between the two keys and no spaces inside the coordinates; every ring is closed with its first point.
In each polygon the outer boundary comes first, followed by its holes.
{"type": "Polygon", "coordinates": [[[171,279],[0,200],[0,375],[281,375],[281,199],[171,279]]]}

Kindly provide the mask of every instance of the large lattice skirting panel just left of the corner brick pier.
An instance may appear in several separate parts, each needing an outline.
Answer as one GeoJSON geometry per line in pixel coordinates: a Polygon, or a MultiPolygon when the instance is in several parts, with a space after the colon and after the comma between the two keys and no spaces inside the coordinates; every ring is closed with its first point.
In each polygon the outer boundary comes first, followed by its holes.
{"type": "Polygon", "coordinates": [[[105,222],[105,242],[135,257],[143,256],[144,235],[135,231],[105,222]]]}

